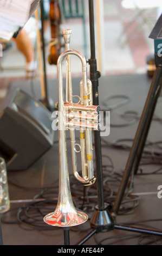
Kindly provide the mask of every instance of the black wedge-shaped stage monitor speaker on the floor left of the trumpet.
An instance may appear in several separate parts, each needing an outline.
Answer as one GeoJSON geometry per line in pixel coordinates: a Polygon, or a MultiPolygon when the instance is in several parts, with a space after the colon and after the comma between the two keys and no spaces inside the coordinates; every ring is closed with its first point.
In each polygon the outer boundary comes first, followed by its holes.
{"type": "Polygon", "coordinates": [[[0,106],[0,155],[7,170],[28,169],[53,145],[51,113],[34,97],[16,88],[0,106]]]}

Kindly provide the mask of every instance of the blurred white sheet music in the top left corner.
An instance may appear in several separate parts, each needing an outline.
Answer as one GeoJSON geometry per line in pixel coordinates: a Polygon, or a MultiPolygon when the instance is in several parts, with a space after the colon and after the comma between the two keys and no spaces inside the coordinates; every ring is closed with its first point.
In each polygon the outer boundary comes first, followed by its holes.
{"type": "Polygon", "coordinates": [[[29,19],[31,4],[38,0],[0,0],[0,38],[10,40],[29,19]]]}

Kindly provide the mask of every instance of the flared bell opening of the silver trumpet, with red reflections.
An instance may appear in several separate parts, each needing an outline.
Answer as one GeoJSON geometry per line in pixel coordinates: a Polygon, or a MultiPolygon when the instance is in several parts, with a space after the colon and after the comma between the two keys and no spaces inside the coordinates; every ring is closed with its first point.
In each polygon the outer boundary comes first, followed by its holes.
{"type": "Polygon", "coordinates": [[[75,209],[66,209],[66,212],[56,209],[44,217],[44,222],[56,227],[73,227],[88,220],[87,214],[75,209]]]}

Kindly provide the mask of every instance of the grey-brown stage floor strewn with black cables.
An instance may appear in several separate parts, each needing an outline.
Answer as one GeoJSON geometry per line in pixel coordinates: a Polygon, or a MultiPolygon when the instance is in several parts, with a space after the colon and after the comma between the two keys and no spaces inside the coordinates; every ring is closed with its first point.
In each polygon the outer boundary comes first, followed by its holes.
{"type": "MultiPolygon", "coordinates": [[[[74,78],[74,94],[79,90],[80,78],[74,78]]],[[[151,78],[147,75],[116,75],[99,78],[101,110],[110,111],[111,128],[108,136],[102,133],[103,188],[105,202],[114,203],[122,179],[129,150],[137,131],[151,78]]],[[[40,82],[18,81],[10,89],[21,88],[41,99],[40,82]]],[[[48,81],[49,95],[57,101],[57,82],[48,81]]],[[[127,197],[122,202],[116,223],[131,223],[134,227],[161,230],[161,200],[158,186],[162,185],[161,164],[161,100],[158,99],[154,118],[148,133],[145,154],[137,175],[131,175],[127,197]],[[155,155],[157,159],[155,159],[155,155]],[[159,162],[158,162],[159,161],[159,162]],[[131,193],[131,194],[130,194],[131,193]]],[[[67,135],[70,184],[77,208],[83,208],[89,217],[98,204],[96,185],[85,188],[73,178],[70,140],[67,135]],[[84,200],[83,200],[84,198],[84,200]]],[[[4,245],[63,245],[61,228],[50,227],[43,216],[55,210],[59,186],[59,144],[55,131],[54,145],[28,170],[8,172],[11,209],[2,216],[4,245]],[[35,200],[32,200],[32,199],[35,200]]],[[[95,157],[95,156],[94,156],[95,157]]],[[[96,172],[96,170],[95,170],[96,172]]],[[[70,229],[70,245],[75,245],[90,230],[90,222],[70,229]]],[[[161,245],[158,236],[142,235],[123,230],[110,230],[94,234],[85,245],[161,245]]]]}

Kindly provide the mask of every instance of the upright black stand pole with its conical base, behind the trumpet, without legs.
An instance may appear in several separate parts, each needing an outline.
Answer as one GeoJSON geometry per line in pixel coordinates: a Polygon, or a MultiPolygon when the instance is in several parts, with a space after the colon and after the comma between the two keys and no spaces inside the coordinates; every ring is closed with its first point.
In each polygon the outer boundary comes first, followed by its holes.
{"type": "MultiPolygon", "coordinates": [[[[93,104],[99,105],[99,77],[95,58],[95,33],[94,33],[94,7],[93,0],[89,0],[89,26],[90,26],[90,80],[93,87],[93,104]]],[[[103,198],[103,176],[102,176],[102,152],[100,131],[94,131],[95,159],[96,159],[96,182],[98,188],[98,205],[96,205],[94,215],[92,216],[91,226],[93,229],[111,229],[113,218],[108,212],[108,204],[104,203],[103,198]]]]}

